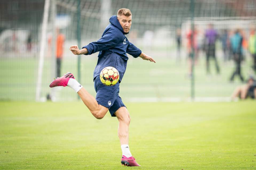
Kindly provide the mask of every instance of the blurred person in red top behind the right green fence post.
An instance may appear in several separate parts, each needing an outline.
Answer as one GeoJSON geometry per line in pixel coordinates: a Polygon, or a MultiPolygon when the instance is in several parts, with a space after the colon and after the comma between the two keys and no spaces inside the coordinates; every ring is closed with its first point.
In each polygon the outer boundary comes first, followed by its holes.
{"type": "Polygon", "coordinates": [[[189,30],[187,32],[187,53],[188,53],[188,76],[191,78],[192,76],[192,60],[194,57],[195,63],[197,63],[198,58],[198,42],[197,42],[197,27],[194,26],[194,31],[189,30]],[[194,56],[193,56],[193,49],[194,56]]]}

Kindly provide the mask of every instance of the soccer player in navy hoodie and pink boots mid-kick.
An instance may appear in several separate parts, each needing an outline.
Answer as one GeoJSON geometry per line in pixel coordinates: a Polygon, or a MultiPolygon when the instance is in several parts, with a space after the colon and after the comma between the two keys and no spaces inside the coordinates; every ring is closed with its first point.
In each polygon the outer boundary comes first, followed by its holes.
{"type": "Polygon", "coordinates": [[[81,50],[77,45],[70,46],[69,50],[75,54],[90,55],[100,52],[98,62],[94,69],[94,88],[97,92],[96,99],[90,95],[80,83],[74,79],[72,73],[55,79],[50,87],[69,86],[81,97],[84,104],[97,119],[102,119],[109,111],[111,116],[119,120],[118,136],[122,149],[121,164],[127,166],[140,166],[132,156],[128,146],[128,131],[130,114],[119,96],[119,84],[124,76],[127,65],[127,54],[133,57],[141,57],[143,60],[155,62],[155,60],[142,53],[139,48],[130,43],[125,37],[129,33],[132,24],[132,13],[129,9],[118,10],[117,16],[109,19],[110,24],[106,27],[101,39],[84,46],[81,50]],[[100,71],[108,66],[115,67],[119,71],[119,82],[114,86],[105,86],[100,81],[100,71]]]}

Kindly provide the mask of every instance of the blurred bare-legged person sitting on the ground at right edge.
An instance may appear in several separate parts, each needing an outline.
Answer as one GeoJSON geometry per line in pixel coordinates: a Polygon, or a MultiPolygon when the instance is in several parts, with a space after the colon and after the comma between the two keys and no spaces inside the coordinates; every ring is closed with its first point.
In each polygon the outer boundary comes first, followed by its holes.
{"type": "Polygon", "coordinates": [[[256,81],[253,77],[250,77],[245,85],[239,86],[233,92],[231,99],[235,100],[236,98],[246,99],[251,98],[255,99],[256,97],[256,81]]]}

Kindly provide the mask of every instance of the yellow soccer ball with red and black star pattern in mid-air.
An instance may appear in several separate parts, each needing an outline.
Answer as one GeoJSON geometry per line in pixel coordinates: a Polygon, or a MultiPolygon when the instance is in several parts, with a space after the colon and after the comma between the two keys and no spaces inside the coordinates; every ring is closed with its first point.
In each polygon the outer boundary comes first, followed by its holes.
{"type": "Polygon", "coordinates": [[[119,72],[115,67],[105,67],[100,72],[100,81],[106,86],[114,86],[119,80],[119,72]]]}

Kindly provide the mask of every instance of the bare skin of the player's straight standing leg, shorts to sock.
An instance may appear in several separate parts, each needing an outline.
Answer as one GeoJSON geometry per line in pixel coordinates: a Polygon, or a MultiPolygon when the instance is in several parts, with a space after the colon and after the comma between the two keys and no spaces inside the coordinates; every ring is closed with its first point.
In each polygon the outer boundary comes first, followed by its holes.
{"type": "Polygon", "coordinates": [[[130,125],[130,114],[126,107],[120,107],[116,112],[115,115],[119,121],[118,126],[118,137],[120,140],[120,144],[124,145],[129,142],[129,125],[130,125]]]}

